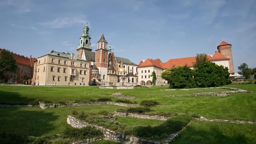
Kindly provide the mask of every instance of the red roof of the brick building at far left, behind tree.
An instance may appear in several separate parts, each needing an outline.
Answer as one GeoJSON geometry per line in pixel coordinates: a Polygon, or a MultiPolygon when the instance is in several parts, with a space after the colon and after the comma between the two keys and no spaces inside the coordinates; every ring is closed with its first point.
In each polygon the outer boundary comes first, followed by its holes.
{"type": "MultiPolygon", "coordinates": [[[[0,52],[1,51],[2,49],[0,48],[0,52]]],[[[24,65],[24,66],[34,66],[34,61],[37,59],[37,58],[32,58],[31,55],[29,58],[13,52],[11,52],[11,54],[15,58],[17,64],[24,65]]]]}

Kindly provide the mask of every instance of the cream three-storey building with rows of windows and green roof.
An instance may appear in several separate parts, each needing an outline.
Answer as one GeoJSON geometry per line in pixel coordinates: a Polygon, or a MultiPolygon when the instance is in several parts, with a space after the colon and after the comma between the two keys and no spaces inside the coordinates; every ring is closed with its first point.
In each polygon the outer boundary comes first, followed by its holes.
{"type": "Polygon", "coordinates": [[[51,51],[38,57],[34,66],[34,81],[40,85],[88,86],[90,62],[75,54],[51,51]]]}

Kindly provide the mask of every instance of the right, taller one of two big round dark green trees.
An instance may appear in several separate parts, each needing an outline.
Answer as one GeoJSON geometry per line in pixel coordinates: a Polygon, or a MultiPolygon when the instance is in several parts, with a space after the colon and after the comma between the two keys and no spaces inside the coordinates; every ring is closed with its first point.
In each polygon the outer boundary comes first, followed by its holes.
{"type": "Polygon", "coordinates": [[[212,62],[204,62],[195,69],[195,82],[199,87],[216,87],[229,84],[229,69],[212,62]]]}

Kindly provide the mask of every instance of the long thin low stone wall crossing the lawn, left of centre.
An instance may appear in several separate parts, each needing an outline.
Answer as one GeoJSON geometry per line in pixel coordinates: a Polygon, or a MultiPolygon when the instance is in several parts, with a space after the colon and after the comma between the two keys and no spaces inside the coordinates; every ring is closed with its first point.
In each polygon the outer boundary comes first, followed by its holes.
{"type": "Polygon", "coordinates": [[[138,104],[125,104],[125,103],[118,103],[118,102],[84,102],[84,103],[73,103],[73,104],[53,104],[53,105],[47,105],[39,102],[40,108],[46,109],[46,108],[56,108],[56,107],[75,107],[75,106],[84,106],[84,105],[119,105],[122,107],[139,107],[138,104]]]}

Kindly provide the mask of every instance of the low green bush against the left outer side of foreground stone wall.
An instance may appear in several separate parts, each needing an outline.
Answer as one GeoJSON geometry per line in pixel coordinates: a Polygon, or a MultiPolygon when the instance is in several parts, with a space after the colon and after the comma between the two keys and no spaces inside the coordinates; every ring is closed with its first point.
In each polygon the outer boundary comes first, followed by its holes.
{"type": "Polygon", "coordinates": [[[101,136],[103,133],[95,127],[83,127],[81,129],[69,127],[64,129],[62,136],[64,138],[88,139],[101,136]]]}

